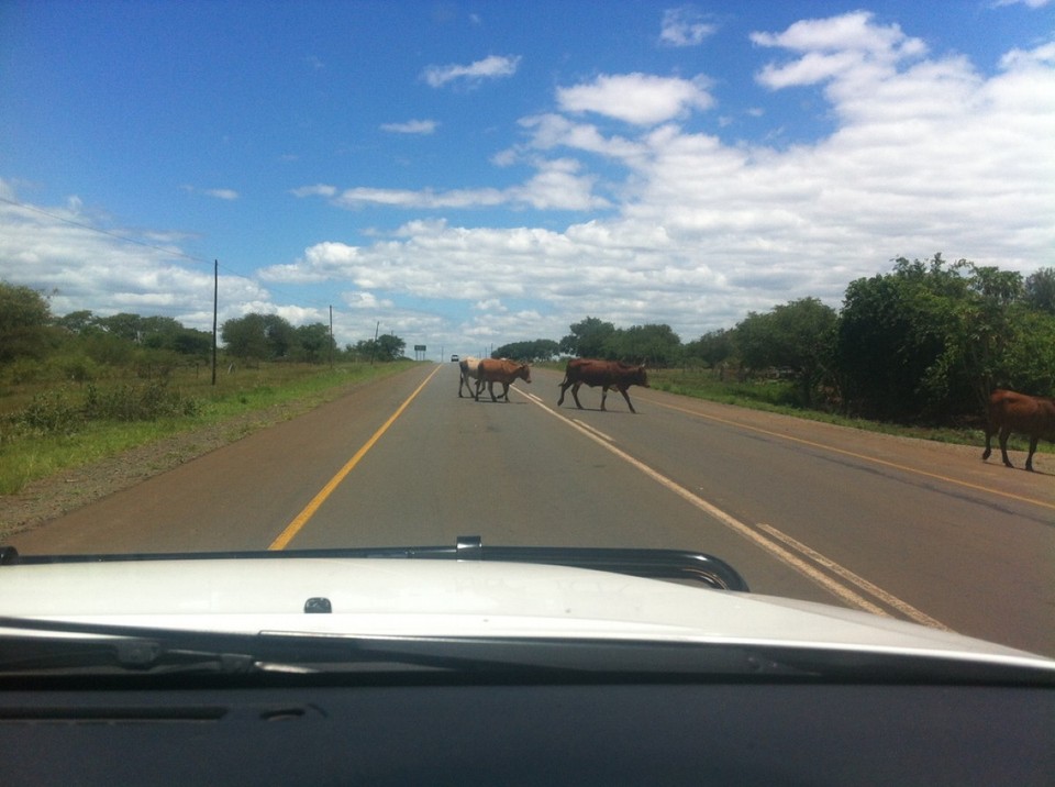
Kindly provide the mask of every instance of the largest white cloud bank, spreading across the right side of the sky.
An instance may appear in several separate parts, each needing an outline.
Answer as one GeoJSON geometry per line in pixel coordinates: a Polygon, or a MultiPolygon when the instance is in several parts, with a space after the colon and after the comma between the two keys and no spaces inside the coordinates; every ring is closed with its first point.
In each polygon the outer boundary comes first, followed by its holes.
{"type": "Polygon", "coordinates": [[[823,86],[837,119],[830,135],[788,149],[732,145],[671,122],[709,106],[696,81],[598,77],[559,90],[558,111],[524,118],[526,141],[496,156],[507,166],[551,156],[521,187],[342,195],[414,207],[587,204],[598,190],[588,155],[625,174],[606,218],[563,229],[412,221],[370,245],[312,246],[287,273],[397,300],[451,298],[457,282],[459,335],[559,336],[592,313],[665,322],[692,339],[792,298],[837,306],[849,281],[900,254],[942,251],[1023,273],[1050,264],[1053,45],[1008,53],[987,77],[867,13],[753,37],[787,58],[759,71],[767,88],[823,86]],[[662,98],[636,100],[646,86],[662,98]],[[611,134],[585,113],[631,129],[611,134]]]}

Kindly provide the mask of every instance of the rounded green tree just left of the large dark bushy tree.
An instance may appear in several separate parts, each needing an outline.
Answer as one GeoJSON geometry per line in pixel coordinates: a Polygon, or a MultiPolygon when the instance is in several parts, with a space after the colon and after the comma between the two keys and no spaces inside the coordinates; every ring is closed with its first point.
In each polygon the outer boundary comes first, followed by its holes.
{"type": "Polygon", "coordinates": [[[811,407],[831,365],[837,317],[817,298],[751,312],[736,325],[736,345],[749,368],[788,368],[799,381],[802,404],[811,407]]]}

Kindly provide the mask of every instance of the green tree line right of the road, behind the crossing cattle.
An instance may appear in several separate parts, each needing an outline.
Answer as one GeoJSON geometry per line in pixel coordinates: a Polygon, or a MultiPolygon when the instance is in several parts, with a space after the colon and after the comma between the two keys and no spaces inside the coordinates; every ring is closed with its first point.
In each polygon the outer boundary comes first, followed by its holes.
{"type": "Polygon", "coordinates": [[[839,310],[801,298],[685,344],[665,324],[620,329],[587,317],[569,328],[559,343],[493,354],[766,375],[793,384],[801,407],[901,422],[975,418],[995,388],[1055,395],[1055,268],[1023,277],[941,254],[899,257],[890,273],[852,281],[839,310]]]}

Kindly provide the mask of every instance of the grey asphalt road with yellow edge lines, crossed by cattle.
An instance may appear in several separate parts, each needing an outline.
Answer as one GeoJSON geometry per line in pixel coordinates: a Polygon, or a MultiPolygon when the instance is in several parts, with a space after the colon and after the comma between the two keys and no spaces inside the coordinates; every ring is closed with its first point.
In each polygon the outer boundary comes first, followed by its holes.
{"type": "Polygon", "coordinates": [[[708,552],[754,592],[1055,655],[1055,459],[533,372],[510,402],[422,365],[19,533],[24,553],[452,544],[708,552]],[[1021,468],[1023,456],[1017,455],[1021,468]]]}

